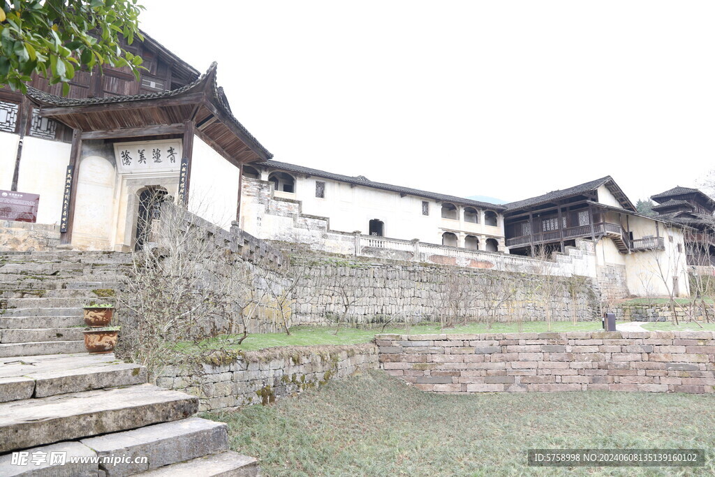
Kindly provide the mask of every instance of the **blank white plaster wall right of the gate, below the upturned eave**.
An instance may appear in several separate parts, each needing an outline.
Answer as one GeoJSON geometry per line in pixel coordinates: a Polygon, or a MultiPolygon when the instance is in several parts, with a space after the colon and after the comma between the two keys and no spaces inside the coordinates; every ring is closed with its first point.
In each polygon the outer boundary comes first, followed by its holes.
{"type": "Polygon", "coordinates": [[[236,220],[240,169],[194,137],[189,210],[226,230],[236,220]]]}

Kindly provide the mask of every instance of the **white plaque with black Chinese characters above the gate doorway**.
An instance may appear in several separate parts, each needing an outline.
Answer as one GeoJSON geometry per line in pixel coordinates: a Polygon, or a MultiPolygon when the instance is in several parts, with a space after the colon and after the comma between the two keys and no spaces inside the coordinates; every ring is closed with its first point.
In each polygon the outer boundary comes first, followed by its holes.
{"type": "Polygon", "coordinates": [[[178,172],[182,159],[181,140],[115,142],[114,157],[122,174],[178,172]]]}

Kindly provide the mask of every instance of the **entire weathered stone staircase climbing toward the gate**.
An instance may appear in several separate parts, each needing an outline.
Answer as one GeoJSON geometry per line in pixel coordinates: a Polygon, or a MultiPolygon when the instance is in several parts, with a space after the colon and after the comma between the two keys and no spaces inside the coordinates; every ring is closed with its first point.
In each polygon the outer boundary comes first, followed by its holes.
{"type": "Polygon", "coordinates": [[[0,476],[258,475],[225,424],[192,417],[197,398],[84,353],[82,307],[112,300],[129,260],[0,252],[0,476]]]}

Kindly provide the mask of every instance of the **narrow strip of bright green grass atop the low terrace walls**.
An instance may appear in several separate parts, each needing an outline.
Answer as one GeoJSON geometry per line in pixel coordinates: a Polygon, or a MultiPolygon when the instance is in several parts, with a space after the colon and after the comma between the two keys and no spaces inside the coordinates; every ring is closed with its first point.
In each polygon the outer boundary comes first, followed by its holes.
{"type": "MultiPolygon", "coordinates": [[[[573,325],[571,322],[554,322],[551,324],[551,331],[596,331],[602,330],[601,321],[583,321],[573,325]]],[[[548,331],[546,322],[529,321],[522,323],[523,333],[542,333],[548,331]]],[[[466,326],[455,328],[440,328],[438,324],[426,324],[405,328],[385,328],[383,332],[380,328],[355,329],[341,328],[337,335],[335,328],[296,326],[291,328],[290,336],[285,333],[260,333],[248,335],[240,346],[229,344],[235,337],[219,336],[199,343],[202,348],[232,348],[246,351],[261,350],[272,346],[310,346],[310,345],[355,345],[358,343],[369,343],[378,333],[400,333],[410,335],[424,335],[430,333],[518,333],[517,323],[494,323],[492,328],[487,328],[482,323],[471,323],[466,326]]],[[[193,346],[193,343],[180,343],[179,346],[186,350],[193,346]]]]}

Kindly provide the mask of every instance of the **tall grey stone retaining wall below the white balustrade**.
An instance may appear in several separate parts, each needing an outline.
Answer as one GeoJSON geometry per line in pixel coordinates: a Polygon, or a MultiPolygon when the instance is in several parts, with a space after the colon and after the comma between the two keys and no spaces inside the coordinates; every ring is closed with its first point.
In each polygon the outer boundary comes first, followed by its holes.
{"type": "Polygon", "coordinates": [[[527,273],[326,254],[294,254],[292,262],[307,263],[295,290],[294,325],[335,324],[344,311],[343,287],[355,299],[347,313],[352,325],[439,321],[445,314],[457,320],[545,320],[547,303],[555,321],[600,319],[596,286],[588,277],[545,280],[527,273]],[[500,297],[504,303],[490,313],[500,297]]]}

